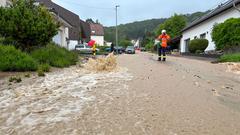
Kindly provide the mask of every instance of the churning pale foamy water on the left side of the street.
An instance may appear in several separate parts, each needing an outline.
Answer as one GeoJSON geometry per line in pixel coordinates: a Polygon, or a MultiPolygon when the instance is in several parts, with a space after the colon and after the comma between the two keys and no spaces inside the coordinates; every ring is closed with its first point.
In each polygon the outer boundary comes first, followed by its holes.
{"type": "Polygon", "coordinates": [[[92,73],[71,67],[19,85],[8,86],[5,80],[0,87],[0,134],[27,134],[57,123],[71,123],[96,99],[89,92],[130,79],[126,69],[92,73]]]}

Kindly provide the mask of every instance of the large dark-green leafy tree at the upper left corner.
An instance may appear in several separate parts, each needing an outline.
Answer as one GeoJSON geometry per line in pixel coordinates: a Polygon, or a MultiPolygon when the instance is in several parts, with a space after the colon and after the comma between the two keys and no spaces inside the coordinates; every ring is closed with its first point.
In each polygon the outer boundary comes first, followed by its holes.
{"type": "Polygon", "coordinates": [[[59,26],[46,8],[34,5],[34,0],[16,0],[10,8],[1,7],[0,22],[0,36],[25,51],[45,46],[59,26]]]}

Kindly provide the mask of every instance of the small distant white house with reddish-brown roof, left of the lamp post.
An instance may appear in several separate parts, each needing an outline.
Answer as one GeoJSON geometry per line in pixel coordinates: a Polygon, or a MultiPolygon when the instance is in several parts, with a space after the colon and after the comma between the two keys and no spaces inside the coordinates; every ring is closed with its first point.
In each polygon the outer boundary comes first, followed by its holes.
{"type": "Polygon", "coordinates": [[[96,41],[96,44],[104,46],[104,28],[101,24],[90,23],[91,40],[96,41]]]}

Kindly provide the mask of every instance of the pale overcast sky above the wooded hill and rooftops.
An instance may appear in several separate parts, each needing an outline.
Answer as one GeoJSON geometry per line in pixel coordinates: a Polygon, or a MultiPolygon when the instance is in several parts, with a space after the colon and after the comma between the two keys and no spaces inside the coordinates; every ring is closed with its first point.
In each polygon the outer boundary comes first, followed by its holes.
{"type": "Polygon", "coordinates": [[[79,15],[80,19],[98,19],[104,26],[115,25],[115,5],[119,23],[170,17],[174,13],[206,11],[224,0],[52,0],[79,15]]]}

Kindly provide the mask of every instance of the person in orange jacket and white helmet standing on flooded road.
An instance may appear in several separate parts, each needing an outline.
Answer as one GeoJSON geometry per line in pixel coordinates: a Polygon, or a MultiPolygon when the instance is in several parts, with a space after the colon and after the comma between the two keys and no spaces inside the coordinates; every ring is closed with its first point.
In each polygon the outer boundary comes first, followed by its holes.
{"type": "Polygon", "coordinates": [[[166,61],[166,50],[168,46],[168,41],[170,36],[167,34],[166,30],[162,30],[162,34],[158,37],[159,41],[162,41],[160,47],[158,48],[158,61],[166,61]]]}

